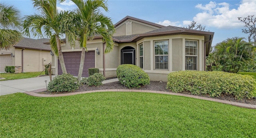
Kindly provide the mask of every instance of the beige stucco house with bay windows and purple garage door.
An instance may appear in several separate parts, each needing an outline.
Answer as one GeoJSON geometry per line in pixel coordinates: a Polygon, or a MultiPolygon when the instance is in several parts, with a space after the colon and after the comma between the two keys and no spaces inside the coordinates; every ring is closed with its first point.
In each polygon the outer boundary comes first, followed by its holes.
{"type": "MultiPolygon", "coordinates": [[[[175,26],[162,26],[138,18],[126,16],[115,24],[114,49],[104,53],[105,44],[100,36],[87,41],[84,73],[88,68],[99,68],[106,78],[116,76],[120,64],[140,66],[153,81],[167,81],[167,74],[179,70],[205,70],[205,58],[209,54],[214,32],[191,30],[175,26]],[[98,48],[99,54],[96,54],[98,48]]],[[[62,52],[67,72],[78,75],[81,48],[77,42],[71,48],[66,41],[62,52]]],[[[58,59],[52,60],[54,74],[62,74],[58,59]]]]}

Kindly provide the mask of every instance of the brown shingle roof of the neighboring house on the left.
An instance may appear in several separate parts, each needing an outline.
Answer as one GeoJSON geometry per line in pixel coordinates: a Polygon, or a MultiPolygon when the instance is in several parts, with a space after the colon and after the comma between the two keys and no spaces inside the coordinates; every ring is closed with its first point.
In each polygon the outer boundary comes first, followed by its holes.
{"type": "Polygon", "coordinates": [[[51,47],[48,44],[44,44],[45,42],[49,42],[47,38],[41,39],[32,39],[32,38],[23,38],[20,40],[18,44],[16,44],[15,48],[28,48],[28,49],[36,49],[36,50],[47,50],[50,51],[51,47]]]}

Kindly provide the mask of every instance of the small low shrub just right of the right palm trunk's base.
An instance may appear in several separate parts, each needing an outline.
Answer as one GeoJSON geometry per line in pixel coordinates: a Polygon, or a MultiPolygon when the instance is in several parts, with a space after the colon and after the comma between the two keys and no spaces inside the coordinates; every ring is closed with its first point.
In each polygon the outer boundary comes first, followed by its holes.
{"type": "Polygon", "coordinates": [[[100,86],[102,85],[102,81],[105,80],[106,78],[104,77],[103,74],[100,74],[100,73],[94,73],[93,75],[89,76],[87,78],[87,82],[86,84],[88,86],[100,86]]]}

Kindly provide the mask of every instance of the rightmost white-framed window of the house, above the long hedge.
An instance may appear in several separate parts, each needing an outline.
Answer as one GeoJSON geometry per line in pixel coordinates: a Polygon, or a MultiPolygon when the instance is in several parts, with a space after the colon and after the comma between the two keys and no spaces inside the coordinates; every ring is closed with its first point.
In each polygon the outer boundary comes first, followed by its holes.
{"type": "Polygon", "coordinates": [[[185,41],[185,69],[197,70],[198,41],[185,41]]]}

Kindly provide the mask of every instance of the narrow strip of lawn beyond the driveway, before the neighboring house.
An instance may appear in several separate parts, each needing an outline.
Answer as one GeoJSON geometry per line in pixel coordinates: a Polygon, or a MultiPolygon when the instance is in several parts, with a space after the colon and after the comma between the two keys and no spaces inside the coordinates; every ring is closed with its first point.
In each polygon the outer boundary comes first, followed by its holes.
{"type": "MultiPolygon", "coordinates": [[[[24,73],[0,73],[0,78],[5,78],[1,79],[0,81],[3,80],[16,80],[16,79],[22,79],[22,78],[33,78],[38,75],[40,75],[41,72],[24,72],[24,73]]],[[[43,75],[44,72],[42,72],[41,75],[43,75]]]]}

